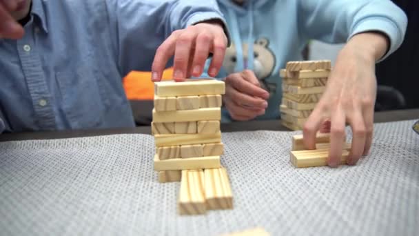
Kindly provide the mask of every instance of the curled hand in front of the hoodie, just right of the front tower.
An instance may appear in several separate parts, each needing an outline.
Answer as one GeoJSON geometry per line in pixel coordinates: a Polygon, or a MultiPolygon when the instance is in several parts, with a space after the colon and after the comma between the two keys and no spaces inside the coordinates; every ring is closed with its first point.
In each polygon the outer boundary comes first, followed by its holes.
{"type": "Polygon", "coordinates": [[[247,121],[265,114],[269,93],[260,88],[252,70],[243,70],[225,78],[223,101],[232,119],[247,121]]]}

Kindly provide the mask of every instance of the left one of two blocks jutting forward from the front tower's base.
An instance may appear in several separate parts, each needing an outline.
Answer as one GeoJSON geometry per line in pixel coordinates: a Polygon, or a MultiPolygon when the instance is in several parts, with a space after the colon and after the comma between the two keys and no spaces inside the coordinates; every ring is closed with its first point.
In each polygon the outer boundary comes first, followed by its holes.
{"type": "Polygon", "coordinates": [[[182,170],[178,212],[180,215],[201,215],[206,212],[203,170],[182,170]]]}

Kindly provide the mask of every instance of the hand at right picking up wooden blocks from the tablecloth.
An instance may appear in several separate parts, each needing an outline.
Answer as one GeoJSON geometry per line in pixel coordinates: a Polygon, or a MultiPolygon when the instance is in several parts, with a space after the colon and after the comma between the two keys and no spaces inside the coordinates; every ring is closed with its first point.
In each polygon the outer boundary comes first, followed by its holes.
{"type": "MultiPolygon", "coordinates": [[[[378,33],[352,37],[340,51],[325,93],[305,123],[305,147],[315,149],[317,130],[330,121],[329,166],[340,164],[346,123],[353,134],[347,164],[355,165],[362,155],[369,153],[377,88],[375,63],[385,54],[387,45],[387,38],[378,33]]],[[[327,126],[323,129],[327,130],[327,126]]]]}

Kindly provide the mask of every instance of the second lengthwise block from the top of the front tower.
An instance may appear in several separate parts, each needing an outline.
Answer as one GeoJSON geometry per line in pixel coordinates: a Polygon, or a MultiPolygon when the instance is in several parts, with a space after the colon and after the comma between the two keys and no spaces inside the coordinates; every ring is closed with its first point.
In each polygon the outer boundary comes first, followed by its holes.
{"type": "Polygon", "coordinates": [[[221,108],[201,108],[198,110],[175,110],[156,112],[153,110],[154,122],[182,122],[221,120],[221,108]]]}

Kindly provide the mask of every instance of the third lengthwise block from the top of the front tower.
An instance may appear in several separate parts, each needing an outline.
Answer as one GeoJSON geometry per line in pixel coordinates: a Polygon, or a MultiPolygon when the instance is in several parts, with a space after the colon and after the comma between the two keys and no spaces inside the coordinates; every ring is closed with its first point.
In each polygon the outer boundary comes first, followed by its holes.
{"type": "Polygon", "coordinates": [[[154,135],[156,146],[175,146],[190,144],[214,144],[221,142],[221,132],[190,135],[154,135]]]}

